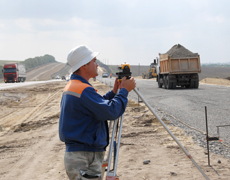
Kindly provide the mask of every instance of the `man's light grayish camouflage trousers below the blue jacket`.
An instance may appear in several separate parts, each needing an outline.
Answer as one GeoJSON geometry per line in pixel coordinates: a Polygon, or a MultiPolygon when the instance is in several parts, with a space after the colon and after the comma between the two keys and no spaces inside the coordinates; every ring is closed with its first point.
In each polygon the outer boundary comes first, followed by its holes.
{"type": "Polygon", "coordinates": [[[65,153],[65,169],[70,180],[101,180],[104,152],[65,153]]]}

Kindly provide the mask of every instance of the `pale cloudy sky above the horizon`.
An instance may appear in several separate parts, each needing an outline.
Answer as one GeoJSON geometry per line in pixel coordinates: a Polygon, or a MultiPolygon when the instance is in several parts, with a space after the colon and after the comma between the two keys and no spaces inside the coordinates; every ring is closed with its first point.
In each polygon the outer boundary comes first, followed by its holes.
{"type": "Polygon", "coordinates": [[[229,0],[0,0],[0,60],[76,46],[105,64],[149,65],[181,44],[201,63],[230,63],[229,0]]]}

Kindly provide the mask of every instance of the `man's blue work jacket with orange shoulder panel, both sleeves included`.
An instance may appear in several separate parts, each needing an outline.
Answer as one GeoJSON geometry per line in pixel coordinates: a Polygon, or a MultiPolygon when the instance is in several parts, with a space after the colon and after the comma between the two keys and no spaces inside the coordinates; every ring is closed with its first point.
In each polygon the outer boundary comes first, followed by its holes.
{"type": "Polygon", "coordinates": [[[66,85],[59,119],[59,137],[66,151],[105,151],[109,144],[107,120],[120,117],[126,108],[128,91],[109,91],[101,96],[79,75],[72,74],[66,85]]]}

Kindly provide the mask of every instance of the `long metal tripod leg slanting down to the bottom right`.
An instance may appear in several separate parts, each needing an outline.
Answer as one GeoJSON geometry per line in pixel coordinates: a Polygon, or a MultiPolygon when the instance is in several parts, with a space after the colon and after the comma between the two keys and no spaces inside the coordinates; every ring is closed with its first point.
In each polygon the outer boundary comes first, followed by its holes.
{"type": "Polygon", "coordinates": [[[149,103],[144,99],[144,97],[140,94],[140,92],[135,88],[135,93],[142,99],[145,105],[149,108],[149,110],[156,116],[158,121],[164,126],[170,136],[176,141],[176,143],[181,147],[187,157],[193,162],[193,164],[197,167],[197,169],[201,172],[201,174],[205,177],[205,179],[209,180],[206,174],[202,171],[202,169],[198,166],[198,164],[194,161],[192,156],[187,152],[187,150],[183,147],[183,145],[178,141],[178,139],[174,136],[174,134],[169,130],[169,128],[165,125],[165,123],[161,120],[161,118],[157,115],[157,113],[153,110],[153,108],[149,105],[149,103]]]}

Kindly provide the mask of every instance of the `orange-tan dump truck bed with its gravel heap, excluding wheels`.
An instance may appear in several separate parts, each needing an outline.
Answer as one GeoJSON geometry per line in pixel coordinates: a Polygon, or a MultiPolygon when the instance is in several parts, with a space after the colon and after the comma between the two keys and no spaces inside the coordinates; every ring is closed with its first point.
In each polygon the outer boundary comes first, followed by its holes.
{"type": "Polygon", "coordinates": [[[159,54],[161,74],[200,73],[200,56],[180,44],[173,46],[165,54],[159,54]]]}

